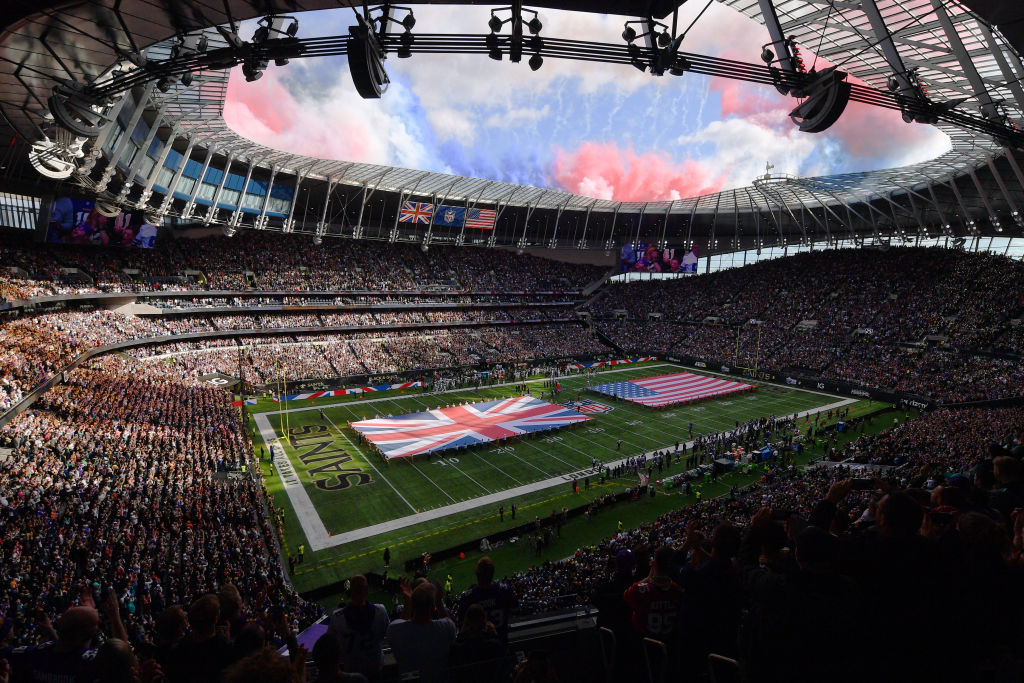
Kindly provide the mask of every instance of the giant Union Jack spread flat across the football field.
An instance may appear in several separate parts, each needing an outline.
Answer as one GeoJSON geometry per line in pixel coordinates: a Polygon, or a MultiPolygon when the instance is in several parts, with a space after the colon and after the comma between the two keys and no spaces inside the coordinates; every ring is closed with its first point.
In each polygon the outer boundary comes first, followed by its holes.
{"type": "Polygon", "coordinates": [[[352,422],[388,460],[473,445],[591,420],[532,396],[352,422]]]}

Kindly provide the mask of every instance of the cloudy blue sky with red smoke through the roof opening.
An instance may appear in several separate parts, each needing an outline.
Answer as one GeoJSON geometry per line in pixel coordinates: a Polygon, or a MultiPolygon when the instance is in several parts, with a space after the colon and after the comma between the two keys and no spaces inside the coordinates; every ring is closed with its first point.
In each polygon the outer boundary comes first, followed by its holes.
{"type": "MultiPolygon", "coordinates": [[[[702,7],[683,5],[680,30],[702,7]]],[[[414,33],[487,31],[485,7],[415,10],[414,33]]],[[[297,16],[304,38],[347,34],[353,24],[347,9],[297,16]]],[[[542,37],[623,41],[623,16],[543,10],[541,18],[542,37]]],[[[768,41],[763,26],[712,2],[681,49],[755,62],[768,41]]],[[[811,50],[802,50],[810,66],[811,50]]],[[[392,54],[385,67],[391,84],[369,100],[356,94],[344,57],[271,62],[253,83],[236,69],[224,119],[242,135],[296,154],[626,202],[748,185],[766,163],[776,173],[814,176],[901,166],[949,148],[933,127],[855,102],[824,133],[801,133],[787,116],[795,100],[730,79],[658,78],[631,66],[554,58],[532,72],[525,58],[480,54],[392,54]]]]}

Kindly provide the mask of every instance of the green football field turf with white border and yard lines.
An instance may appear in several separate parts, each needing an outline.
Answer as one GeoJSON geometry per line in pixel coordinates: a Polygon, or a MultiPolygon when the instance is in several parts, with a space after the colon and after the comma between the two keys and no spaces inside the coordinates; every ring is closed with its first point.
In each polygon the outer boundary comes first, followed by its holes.
{"type": "MultiPolygon", "coordinates": [[[[599,382],[683,371],[688,370],[665,362],[620,367],[600,373],[599,382]]],[[[634,485],[635,478],[623,478],[603,486],[595,483],[589,492],[574,495],[569,480],[561,477],[590,468],[592,458],[610,463],[674,446],[677,440],[689,440],[687,426],[691,422],[693,433],[699,434],[732,428],[737,421],[815,411],[843,401],[850,405],[854,416],[873,410],[867,401],[760,384],[754,392],[652,411],[588,392],[584,377],[560,381],[563,391],[559,401],[574,399],[582,392],[583,397],[607,403],[614,410],[595,415],[585,425],[544,432],[504,447],[483,447],[454,458],[435,457],[389,465],[358,443],[354,432],[347,427],[349,421],[400,415],[451,402],[490,400],[515,395],[515,387],[487,386],[445,394],[408,390],[373,398],[346,396],[315,402],[290,401],[284,414],[279,410],[281,405],[272,401],[263,400],[251,407],[254,419],[250,426],[257,452],[276,437],[294,469],[294,473],[286,471],[283,477],[276,468],[271,472],[269,465],[263,465],[274,503],[285,510],[286,553],[295,553],[300,545],[305,548],[304,562],[296,567],[294,574],[296,588],[308,590],[355,571],[380,570],[380,555],[385,547],[391,548],[392,567],[400,567],[403,559],[424,551],[440,550],[508,527],[513,524],[509,514],[513,501],[519,507],[515,523],[521,523],[524,519],[545,516],[552,509],[579,506],[634,485]],[[324,409],[326,420],[321,419],[319,409],[324,409]],[[285,429],[287,440],[281,438],[285,429]],[[616,450],[620,438],[622,449],[616,450]],[[288,482],[292,482],[291,488],[286,485],[288,482]],[[548,483],[529,493],[515,493],[539,482],[548,483]],[[460,504],[476,505],[483,497],[489,497],[486,505],[454,509],[460,504]],[[306,508],[302,507],[305,505],[302,500],[307,501],[306,508]],[[498,517],[499,502],[506,508],[504,521],[498,517]],[[305,519],[300,521],[302,514],[305,519]],[[436,517],[418,520],[425,515],[436,517]],[[388,528],[367,528],[386,522],[388,528]],[[318,531],[315,524],[319,525],[318,531]],[[322,549],[313,551],[317,544],[322,549]]],[[[537,381],[534,386],[534,393],[538,394],[543,382],[537,381]]],[[[681,468],[674,467],[666,474],[678,471],[681,468]]]]}

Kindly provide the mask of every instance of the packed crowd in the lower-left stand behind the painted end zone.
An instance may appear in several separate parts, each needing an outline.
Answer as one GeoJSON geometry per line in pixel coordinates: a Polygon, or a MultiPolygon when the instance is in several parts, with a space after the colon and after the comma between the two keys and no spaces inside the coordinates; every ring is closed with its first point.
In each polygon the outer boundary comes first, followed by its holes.
{"type": "MultiPolygon", "coordinates": [[[[160,615],[231,584],[291,626],[318,613],[283,580],[267,496],[230,397],[153,365],[104,356],[0,429],[0,611],[18,643],[45,637],[93,582],[134,643],[160,615]]],[[[151,640],[152,642],[152,640],[151,640]]]]}

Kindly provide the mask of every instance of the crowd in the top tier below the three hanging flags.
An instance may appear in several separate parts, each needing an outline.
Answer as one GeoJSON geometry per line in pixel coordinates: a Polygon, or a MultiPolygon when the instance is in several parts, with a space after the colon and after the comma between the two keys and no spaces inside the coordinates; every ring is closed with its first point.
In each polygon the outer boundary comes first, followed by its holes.
{"type": "Polygon", "coordinates": [[[83,292],[208,290],[577,292],[604,274],[503,249],[330,241],[247,230],[234,239],[161,241],[152,250],[10,244],[0,260],[6,300],[83,292]],[[71,272],[71,271],[75,272],[71,272]],[[197,275],[196,273],[202,273],[197,275]]]}

